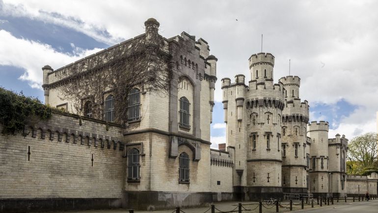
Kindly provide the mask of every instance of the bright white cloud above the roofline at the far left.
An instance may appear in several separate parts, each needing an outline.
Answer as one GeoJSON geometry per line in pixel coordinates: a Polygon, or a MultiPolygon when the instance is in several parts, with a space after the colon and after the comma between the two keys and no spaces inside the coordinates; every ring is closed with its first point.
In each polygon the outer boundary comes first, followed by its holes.
{"type": "Polygon", "coordinates": [[[53,68],[60,68],[66,64],[91,55],[101,49],[76,50],[75,55],[59,53],[50,45],[38,41],[16,38],[8,31],[0,30],[0,65],[10,65],[25,69],[20,77],[29,82],[32,88],[41,89],[42,69],[49,64],[53,68]]]}

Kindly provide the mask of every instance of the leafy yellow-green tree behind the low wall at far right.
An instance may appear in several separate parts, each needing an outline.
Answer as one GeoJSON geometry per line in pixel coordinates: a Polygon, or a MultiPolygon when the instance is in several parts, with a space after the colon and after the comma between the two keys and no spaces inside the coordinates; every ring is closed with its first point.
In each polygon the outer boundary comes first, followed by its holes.
{"type": "Polygon", "coordinates": [[[348,159],[350,161],[350,172],[362,174],[367,170],[376,170],[377,162],[377,133],[368,132],[351,140],[348,147],[348,159]]]}

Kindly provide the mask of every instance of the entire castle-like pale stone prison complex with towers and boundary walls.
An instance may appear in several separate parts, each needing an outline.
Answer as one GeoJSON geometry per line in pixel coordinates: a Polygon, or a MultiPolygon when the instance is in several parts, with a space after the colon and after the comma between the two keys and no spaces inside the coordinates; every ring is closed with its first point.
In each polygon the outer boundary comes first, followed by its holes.
{"type": "Polygon", "coordinates": [[[56,70],[42,68],[45,104],[69,113],[30,123],[26,134],[0,135],[0,212],[159,210],[283,193],[377,194],[376,173],[346,174],[348,139],[329,139],[328,122],[309,122],[300,78],[273,82],[270,53],[249,58],[250,81],[244,75],[221,79],[227,143],[211,149],[216,57],[202,38],[186,32],[164,38],[155,19],[144,24],[145,33],[130,40],[56,70]],[[92,118],[88,99],[62,97],[67,73],[85,76],[93,61],[105,65],[106,57],[134,48],[138,39],[147,47],[160,42],[173,64],[166,64],[172,80],[166,94],[133,88],[127,125],[115,122],[111,90],[103,91],[102,119],[92,118]]]}

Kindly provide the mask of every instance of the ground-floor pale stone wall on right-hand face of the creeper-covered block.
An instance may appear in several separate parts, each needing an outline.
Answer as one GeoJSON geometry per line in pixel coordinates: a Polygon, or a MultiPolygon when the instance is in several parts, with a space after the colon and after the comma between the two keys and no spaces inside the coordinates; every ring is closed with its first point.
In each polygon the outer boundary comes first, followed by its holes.
{"type": "Polygon", "coordinates": [[[150,160],[151,172],[150,190],[164,192],[210,192],[211,169],[210,169],[210,145],[201,144],[201,159],[194,161],[193,151],[187,145],[180,145],[178,153],[186,152],[191,159],[189,161],[190,183],[179,183],[179,157],[169,157],[169,136],[150,133],[150,154],[146,158],[150,160]],[[151,158],[151,159],[148,159],[151,158]],[[164,184],[162,184],[164,183],[164,184]]]}

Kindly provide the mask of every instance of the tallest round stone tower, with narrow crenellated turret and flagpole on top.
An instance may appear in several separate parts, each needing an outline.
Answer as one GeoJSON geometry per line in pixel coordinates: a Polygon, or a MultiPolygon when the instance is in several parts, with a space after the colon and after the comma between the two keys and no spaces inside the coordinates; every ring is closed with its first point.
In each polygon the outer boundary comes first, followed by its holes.
{"type": "Polygon", "coordinates": [[[249,58],[251,81],[246,91],[246,185],[253,198],[277,197],[281,188],[281,116],[283,84],[273,83],[274,56],[249,58]]]}

